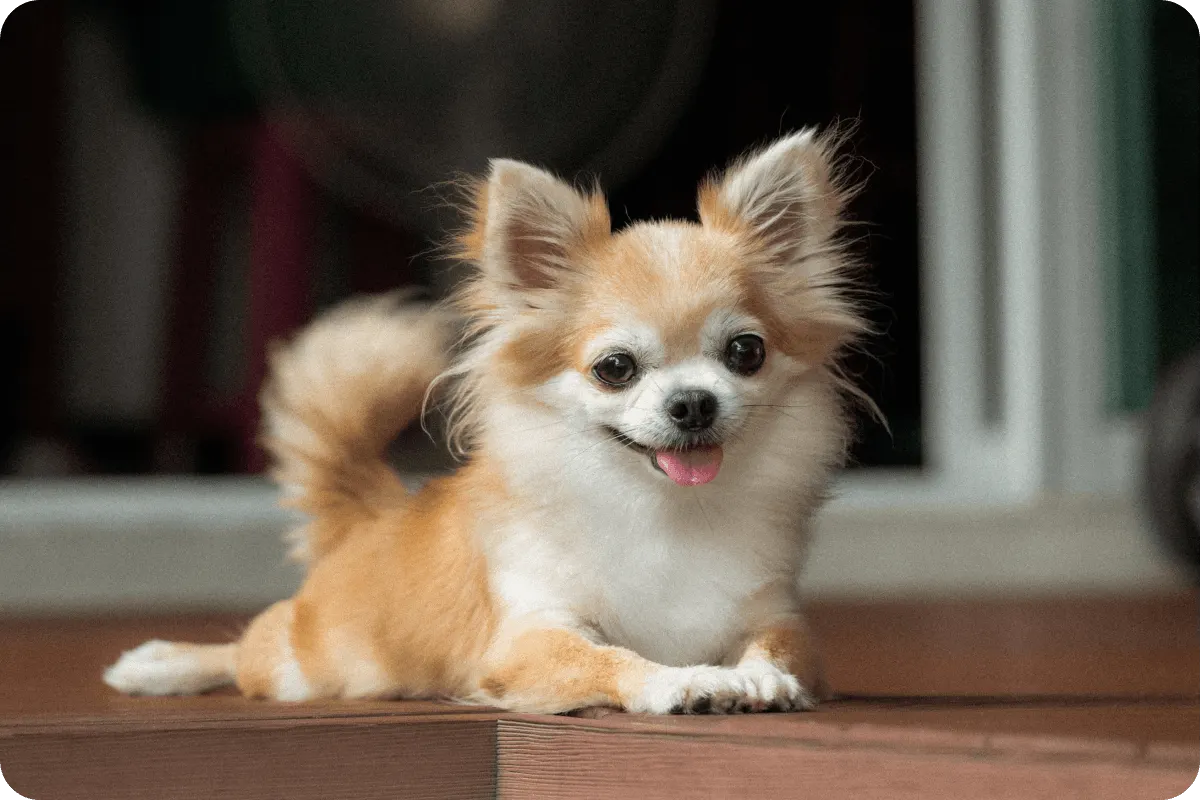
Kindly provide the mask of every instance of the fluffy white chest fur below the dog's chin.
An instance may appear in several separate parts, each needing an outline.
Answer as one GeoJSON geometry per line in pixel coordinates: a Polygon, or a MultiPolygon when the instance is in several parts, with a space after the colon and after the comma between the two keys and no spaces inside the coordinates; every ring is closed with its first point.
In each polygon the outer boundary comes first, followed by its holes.
{"type": "Polygon", "coordinates": [[[510,615],[576,620],[663,664],[716,663],[746,631],[747,599],[799,567],[800,520],[772,524],[722,491],[671,486],[685,502],[664,502],[596,488],[614,501],[558,506],[492,538],[510,615]]]}

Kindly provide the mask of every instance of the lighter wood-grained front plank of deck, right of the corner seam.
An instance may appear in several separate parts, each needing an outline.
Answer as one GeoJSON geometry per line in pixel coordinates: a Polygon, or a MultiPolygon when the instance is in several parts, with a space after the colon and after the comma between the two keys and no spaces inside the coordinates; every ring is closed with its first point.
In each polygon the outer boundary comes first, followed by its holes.
{"type": "Polygon", "coordinates": [[[1035,757],[993,748],[937,752],[884,742],[632,733],[502,720],[500,798],[763,798],[824,800],[1130,800],[1171,798],[1195,763],[1035,757]]]}

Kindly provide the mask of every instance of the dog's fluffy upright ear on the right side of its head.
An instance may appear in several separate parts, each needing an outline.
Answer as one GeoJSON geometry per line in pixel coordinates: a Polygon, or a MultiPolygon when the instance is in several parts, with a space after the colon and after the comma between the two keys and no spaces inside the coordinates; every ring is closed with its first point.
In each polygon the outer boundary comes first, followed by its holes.
{"type": "Polygon", "coordinates": [[[808,129],[731,165],[700,189],[700,219],[751,234],[778,267],[833,235],[849,192],[835,179],[838,135],[808,129]]]}

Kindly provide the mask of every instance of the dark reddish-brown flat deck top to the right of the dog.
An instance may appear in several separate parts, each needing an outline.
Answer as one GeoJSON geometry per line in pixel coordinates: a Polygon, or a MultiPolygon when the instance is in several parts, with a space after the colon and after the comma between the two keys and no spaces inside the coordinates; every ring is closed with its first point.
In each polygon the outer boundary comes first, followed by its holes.
{"type": "Polygon", "coordinates": [[[944,597],[813,603],[848,694],[1201,693],[1201,596],[944,597]]]}

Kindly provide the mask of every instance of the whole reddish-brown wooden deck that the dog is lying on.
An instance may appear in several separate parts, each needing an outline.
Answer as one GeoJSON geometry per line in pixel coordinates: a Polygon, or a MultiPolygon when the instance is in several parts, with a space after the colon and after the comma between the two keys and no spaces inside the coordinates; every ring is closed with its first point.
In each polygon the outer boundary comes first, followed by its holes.
{"type": "Polygon", "coordinates": [[[124,698],[148,638],[245,617],[0,619],[22,798],[1173,798],[1197,774],[1199,596],[827,603],[812,714],[566,718],[432,703],[124,698]]]}

